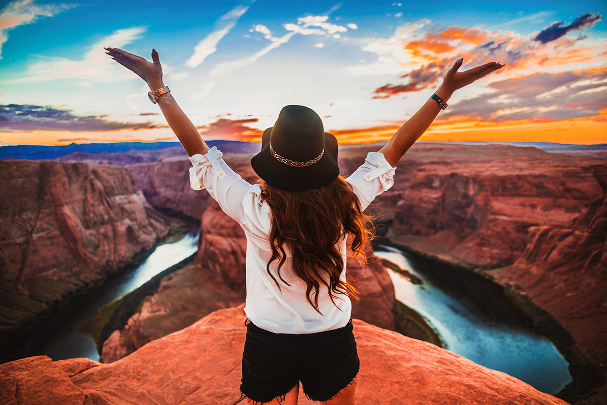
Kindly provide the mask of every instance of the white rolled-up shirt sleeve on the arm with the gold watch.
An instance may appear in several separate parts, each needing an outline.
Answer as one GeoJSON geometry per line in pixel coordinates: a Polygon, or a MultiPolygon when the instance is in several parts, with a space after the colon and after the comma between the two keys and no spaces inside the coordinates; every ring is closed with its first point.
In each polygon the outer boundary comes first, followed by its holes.
{"type": "Polygon", "coordinates": [[[245,223],[243,199],[251,192],[251,184],[234,173],[225,161],[223,153],[212,147],[206,155],[192,155],[189,169],[190,187],[194,190],[206,189],[223,212],[239,224],[245,223]]]}

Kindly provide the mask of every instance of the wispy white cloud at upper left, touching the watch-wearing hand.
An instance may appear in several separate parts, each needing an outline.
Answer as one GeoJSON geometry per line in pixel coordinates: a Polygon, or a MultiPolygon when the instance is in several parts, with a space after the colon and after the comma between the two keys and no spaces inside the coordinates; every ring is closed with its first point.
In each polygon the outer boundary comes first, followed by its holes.
{"type": "Polygon", "coordinates": [[[124,47],[146,31],[144,27],[125,28],[116,30],[112,35],[92,45],[84,54],[81,61],[67,58],[43,58],[30,65],[29,77],[10,82],[39,82],[54,79],[91,79],[94,81],[124,81],[131,80],[132,72],[124,69],[105,54],[104,47],[124,47]],[[120,68],[120,69],[118,69],[120,68]],[[114,72],[109,73],[110,70],[114,72]]]}

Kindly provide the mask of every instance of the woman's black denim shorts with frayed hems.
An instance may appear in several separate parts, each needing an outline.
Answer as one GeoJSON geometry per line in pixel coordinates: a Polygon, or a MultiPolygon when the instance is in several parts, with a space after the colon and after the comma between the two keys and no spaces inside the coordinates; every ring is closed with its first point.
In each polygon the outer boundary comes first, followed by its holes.
{"type": "Polygon", "coordinates": [[[352,322],[334,330],[290,335],[246,324],[240,392],[256,403],[284,397],[302,383],[313,401],[328,401],[352,383],[360,362],[352,322]]]}

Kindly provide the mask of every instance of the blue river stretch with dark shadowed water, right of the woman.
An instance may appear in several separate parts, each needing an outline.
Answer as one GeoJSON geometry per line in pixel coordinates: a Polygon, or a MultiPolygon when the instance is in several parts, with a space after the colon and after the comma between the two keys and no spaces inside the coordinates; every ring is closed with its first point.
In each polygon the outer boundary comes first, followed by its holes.
{"type": "Polygon", "coordinates": [[[421,279],[414,284],[388,269],[396,300],[423,316],[446,349],[542,392],[555,394],[572,381],[565,358],[502,287],[391,247],[381,246],[375,255],[421,279]]]}

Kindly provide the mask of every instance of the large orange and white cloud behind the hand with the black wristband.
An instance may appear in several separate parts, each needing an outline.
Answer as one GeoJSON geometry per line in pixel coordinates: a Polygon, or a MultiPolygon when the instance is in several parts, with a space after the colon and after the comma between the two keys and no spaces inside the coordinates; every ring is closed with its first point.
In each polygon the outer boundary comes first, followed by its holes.
{"type": "MultiPolygon", "coordinates": [[[[581,22],[575,25],[576,27],[591,27],[596,21],[600,21],[600,16],[584,15],[579,20],[581,22]]],[[[423,27],[424,24],[415,24],[399,28],[389,40],[380,39],[368,47],[370,52],[378,52],[379,55],[391,52],[393,58],[387,63],[390,66],[402,66],[403,71],[399,77],[405,79],[401,83],[391,82],[377,87],[373,98],[418,92],[437,85],[450,65],[462,57],[467,66],[480,65],[491,60],[506,64],[505,69],[490,76],[486,79],[488,81],[500,76],[524,77],[540,71],[555,73],[578,70],[584,65],[597,69],[596,65],[600,64],[600,61],[607,65],[607,41],[585,41],[583,36],[570,38],[559,33],[541,36],[543,40],[540,41],[537,38],[498,30],[456,26],[438,31],[430,28],[424,32],[423,27]]],[[[544,31],[548,33],[551,30],[544,31]]]]}

